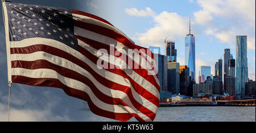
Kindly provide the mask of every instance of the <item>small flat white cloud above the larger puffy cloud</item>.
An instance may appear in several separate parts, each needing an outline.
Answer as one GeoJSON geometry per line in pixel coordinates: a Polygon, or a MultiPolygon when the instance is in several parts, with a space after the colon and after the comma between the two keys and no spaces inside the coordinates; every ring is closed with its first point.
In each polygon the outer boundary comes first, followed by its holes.
{"type": "Polygon", "coordinates": [[[150,9],[150,7],[146,7],[146,10],[138,10],[135,8],[125,9],[125,13],[131,16],[155,16],[156,13],[150,9]]]}

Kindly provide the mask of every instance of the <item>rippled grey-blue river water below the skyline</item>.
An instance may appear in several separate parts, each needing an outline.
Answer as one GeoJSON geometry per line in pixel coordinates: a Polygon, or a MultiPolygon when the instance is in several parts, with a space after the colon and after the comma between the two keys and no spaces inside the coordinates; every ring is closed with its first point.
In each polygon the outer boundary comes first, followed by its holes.
{"type": "MultiPolygon", "coordinates": [[[[81,110],[82,121],[116,121],[81,110]],[[86,115],[86,116],[85,116],[86,115]]],[[[137,121],[131,118],[130,122],[137,121]]],[[[255,106],[176,106],[159,107],[155,122],[255,122],[255,106]]]]}

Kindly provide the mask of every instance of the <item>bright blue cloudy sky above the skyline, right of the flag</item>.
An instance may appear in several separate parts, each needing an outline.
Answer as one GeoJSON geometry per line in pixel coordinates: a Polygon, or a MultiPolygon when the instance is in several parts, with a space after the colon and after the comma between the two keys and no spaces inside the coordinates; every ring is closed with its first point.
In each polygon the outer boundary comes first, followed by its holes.
{"type": "MultiPolygon", "coordinates": [[[[230,48],[236,58],[236,35],[247,35],[249,78],[255,80],[255,1],[254,0],[188,0],[188,1],[94,1],[97,15],[109,20],[137,45],[161,48],[164,39],[175,41],[177,61],[184,65],[184,37],[189,32],[196,37],[196,77],[201,65],[211,66],[223,59],[230,48]]],[[[198,82],[198,79],[196,78],[198,82]]]]}

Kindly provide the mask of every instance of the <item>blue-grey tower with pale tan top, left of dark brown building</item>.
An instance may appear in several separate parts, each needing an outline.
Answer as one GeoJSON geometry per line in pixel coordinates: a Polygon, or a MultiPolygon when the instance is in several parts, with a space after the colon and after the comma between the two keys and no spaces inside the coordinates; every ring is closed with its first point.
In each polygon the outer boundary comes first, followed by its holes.
{"type": "Polygon", "coordinates": [[[172,94],[180,92],[180,64],[176,62],[167,63],[167,90],[172,94]]]}

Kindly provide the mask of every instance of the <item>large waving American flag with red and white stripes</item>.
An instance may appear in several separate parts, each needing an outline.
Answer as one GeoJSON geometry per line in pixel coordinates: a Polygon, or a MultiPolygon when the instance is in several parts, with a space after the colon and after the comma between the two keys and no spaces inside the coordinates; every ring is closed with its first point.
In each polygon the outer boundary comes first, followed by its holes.
{"type": "MultiPolygon", "coordinates": [[[[132,64],[138,69],[97,67],[99,49],[116,59],[119,56],[112,53],[119,49],[146,48],[108,21],[82,11],[14,2],[3,2],[3,11],[10,82],[61,88],[87,101],[90,110],[102,117],[154,120],[160,92],[157,74],[148,74],[138,60],[132,64]]],[[[141,50],[136,54],[154,59],[141,50]]]]}

